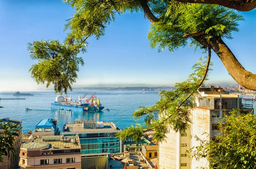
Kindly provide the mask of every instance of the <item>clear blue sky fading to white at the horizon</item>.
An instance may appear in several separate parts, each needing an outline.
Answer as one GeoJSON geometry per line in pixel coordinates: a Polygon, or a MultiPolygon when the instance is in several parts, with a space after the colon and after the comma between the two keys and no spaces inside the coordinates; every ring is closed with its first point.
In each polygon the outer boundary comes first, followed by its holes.
{"type": "MultiPolygon", "coordinates": [[[[0,0],[0,91],[33,90],[37,86],[29,68],[35,63],[29,57],[27,43],[34,40],[64,40],[66,20],[74,13],[61,0],[0,0]]],[[[224,40],[240,63],[256,73],[256,10],[240,12],[240,32],[233,40],[224,40]]],[[[87,53],[81,54],[85,65],[80,68],[74,86],[94,84],[167,85],[183,81],[192,72],[201,51],[185,47],[174,53],[151,49],[147,39],[150,22],[143,13],[116,16],[99,40],[88,39],[87,53]]],[[[216,54],[213,71],[207,83],[235,83],[216,54]]]]}

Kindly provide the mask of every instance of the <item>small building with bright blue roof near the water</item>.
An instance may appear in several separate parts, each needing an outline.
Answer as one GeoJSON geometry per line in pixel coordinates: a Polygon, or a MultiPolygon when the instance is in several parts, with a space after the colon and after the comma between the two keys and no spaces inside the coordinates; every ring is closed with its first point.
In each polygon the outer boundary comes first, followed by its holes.
{"type": "Polygon", "coordinates": [[[32,131],[31,138],[42,137],[42,136],[52,136],[59,135],[60,129],[58,127],[57,120],[54,119],[44,119],[41,120],[32,131]]]}

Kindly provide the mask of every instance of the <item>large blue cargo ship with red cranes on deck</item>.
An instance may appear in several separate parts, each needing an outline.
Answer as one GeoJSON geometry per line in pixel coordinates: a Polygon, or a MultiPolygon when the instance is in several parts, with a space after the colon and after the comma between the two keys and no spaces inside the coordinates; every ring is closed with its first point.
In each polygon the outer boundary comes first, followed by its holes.
{"type": "Polygon", "coordinates": [[[89,99],[79,96],[78,102],[72,102],[72,98],[63,97],[58,95],[55,98],[54,103],[51,103],[51,109],[59,109],[63,111],[74,111],[74,112],[100,112],[104,107],[101,105],[100,100],[96,98],[96,93],[94,93],[89,99]],[[82,100],[86,100],[82,103],[82,100]],[[90,103],[89,103],[90,102],[90,103]]]}

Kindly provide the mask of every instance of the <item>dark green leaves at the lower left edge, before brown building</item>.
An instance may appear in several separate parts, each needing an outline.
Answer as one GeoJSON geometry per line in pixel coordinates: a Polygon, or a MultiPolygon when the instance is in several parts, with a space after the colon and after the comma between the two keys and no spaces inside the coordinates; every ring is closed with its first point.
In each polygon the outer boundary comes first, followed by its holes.
{"type": "Polygon", "coordinates": [[[14,147],[15,137],[18,135],[17,124],[0,123],[0,162],[3,162],[3,155],[10,157],[10,153],[16,154],[14,147]]]}

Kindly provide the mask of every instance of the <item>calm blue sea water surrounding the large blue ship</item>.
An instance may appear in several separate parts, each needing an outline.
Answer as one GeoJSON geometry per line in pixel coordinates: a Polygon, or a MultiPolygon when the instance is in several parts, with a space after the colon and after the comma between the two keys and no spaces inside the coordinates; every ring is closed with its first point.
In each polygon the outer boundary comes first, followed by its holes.
{"type": "Polygon", "coordinates": [[[78,96],[89,98],[96,92],[102,106],[105,108],[102,112],[66,112],[51,109],[51,103],[54,102],[55,93],[53,91],[21,92],[31,93],[34,96],[13,96],[13,92],[0,93],[1,98],[26,98],[25,100],[0,100],[0,118],[10,117],[11,119],[22,120],[23,132],[33,130],[40,120],[53,118],[58,120],[58,126],[62,130],[64,123],[73,123],[76,119],[99,120],[113,122],[119,128],[123,129],[131,124],[143,123],[143,119],[138,122],[131,117],[133,112],[140,106],[151,106],[160,99],[158,92],[140,91],[73,91],[67,96],[72,95],[73,102],[78,100],[78,96]],[[32,109],[26,111],[25,108],[32,109]]]}

